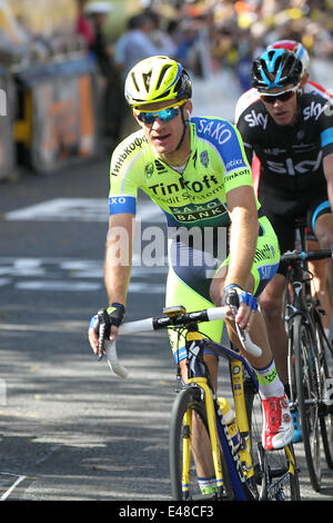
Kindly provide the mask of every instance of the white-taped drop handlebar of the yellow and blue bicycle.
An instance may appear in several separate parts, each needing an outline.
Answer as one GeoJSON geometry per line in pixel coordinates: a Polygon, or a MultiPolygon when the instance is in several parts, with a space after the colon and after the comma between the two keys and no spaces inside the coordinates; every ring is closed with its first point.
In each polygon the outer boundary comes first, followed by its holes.
{"type": "MultiPolygon", "coordinates": [[[[142,332],[160,330],[172,326],[185,326],[192,322],[213,322],[214,319],[225,319],[225,307],[212,307],[194,313],[178,314],[175,316],[159,316],[140,319],[135,322],[127,322],[119,327],[119,335],[137,334],[142,332]]],[[[262,349],[255,345],[249,333],[238,327],[238,334],[243,348],[253,356],[259,357],[262,349]]],[[[125,378],[129,372],[123,367],[118,358],[115,342],[105,341],[107,358],[111,371],[118,376],[125,378]]]]}

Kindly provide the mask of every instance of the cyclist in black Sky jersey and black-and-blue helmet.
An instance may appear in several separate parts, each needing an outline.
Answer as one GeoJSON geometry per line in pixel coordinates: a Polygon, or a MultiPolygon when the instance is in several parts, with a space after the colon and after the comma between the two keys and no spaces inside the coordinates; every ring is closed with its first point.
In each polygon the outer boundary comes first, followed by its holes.
{"type": "MultiPolygon", "coordinates": [[[[321,248],[333,245],[333,107],[301,90],[302,62],[285,49],[270,49],[254,60],[252,86],[259,99],[238,120],[249,161],[261,162],[258,196],[280,241],[295,245],[296,218],[306,217],[321,248]]],[[[329,262],[332,274],[332,260],[329,262]]],[[[260,297],[274,358],[286,384],[287,342],[282,320],[285,267],[260,297]]]]}

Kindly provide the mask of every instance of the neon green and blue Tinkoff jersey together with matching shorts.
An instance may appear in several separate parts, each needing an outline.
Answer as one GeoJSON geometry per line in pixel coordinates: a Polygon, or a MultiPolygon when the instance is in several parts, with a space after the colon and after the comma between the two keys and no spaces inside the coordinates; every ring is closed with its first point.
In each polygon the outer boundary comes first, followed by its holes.
{"type": "MultiPolygon", "coordinates": [[[[172,231],[165,305],[183,305],[190,312],[213,306],[209,294],[212,272],[222,264],[228,265],[228,257],[215,259],[213,245],[208,272],[206,256],[200,257],[200,248],[184,241],[183,237],[180,239],[178,231],[198,227],[203,231],[226,228],[230,225],[228,193],[241,186],[253,186],[253,180],[242,138],[232,124],[222,118],[195,117],[189,126],[191,155],[181,172],[158,156],[143,130],[123,140],[111,159],[109,204],[110,215],[135,215],[140,188],[164,211],[168,230],[172,231]],[[178,263],[182,249],[189,254],[185,265],[178,263]]],[[[252,274],[258,295],[275,274],[280,250],[274,230],[262,215],[259,201],[256,205],[261,230],[252,274]]],[[[204,250],[205,244],[202,245],[204,250]]],[[[205,325],[208,335],[220,341],[223,322],[205,325]]],[[[175,351],[173,342],[171,339],[175,351]]]]}

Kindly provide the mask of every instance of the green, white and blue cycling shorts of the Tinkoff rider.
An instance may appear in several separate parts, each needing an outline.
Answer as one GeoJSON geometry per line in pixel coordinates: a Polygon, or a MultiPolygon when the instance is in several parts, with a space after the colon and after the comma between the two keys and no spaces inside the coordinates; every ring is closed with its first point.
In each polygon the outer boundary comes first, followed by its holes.
{"type": "MultiPolygon", "coordinates": [[[[278,270],[280,262],[280,249],[276,235],[266,217],[260,218],[261,233],[258,238],[256,253],[251,274],[254,278],[253,294],[259,296],[266,284],[278,270]]],[[[169,239],[169,274],[167,280],[165,306],[182,305],[186,312],[194,312],[208,307],[214,307],[210,297],[210,286],[218,269],[226,268],[229,256],[221,255],[223,247],[219,249],[219,239],[226,238],[224,228],[216,233],[211,241],[204,241],[203,248],[195,241],[182,241],[175,236],[169,239]],[[221,233],[221,234],[219,234],[221,233]]],[[[200,244],[200,241],[199,241],[200,244]]],[[[202,247],[202,246],[201,246],[202,247]]],[[[226,250],[226,249],[225,249],[226,250]]],[[[219,270],[220,273],[220,270],[219,270]]],[[[221,274],[221,273],[220,273],[221,274]]],[[[223,320],[201,323],[200,332],[215,343],[220,343],[223,332],[223,320]]],[[[175,362],[186,357],[185,339],[181,332],[169,329],[169,338],[175,362]]]]}

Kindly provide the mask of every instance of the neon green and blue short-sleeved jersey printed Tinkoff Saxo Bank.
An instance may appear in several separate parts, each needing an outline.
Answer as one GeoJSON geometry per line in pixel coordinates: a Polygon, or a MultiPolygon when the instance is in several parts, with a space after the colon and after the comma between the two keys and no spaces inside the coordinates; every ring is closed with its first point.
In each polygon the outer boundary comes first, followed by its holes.
{"type": "Polygon", "coordinates": [[[140,188],[165,213],[169,226],[228,225],[228,191],[253,185],[241,136],[221,118],[192,118],[190,130],[191,157],[182,174],[157,156],[142,130],[117,147],[110,169],[110,215],[135,214],[140,188]]]}

